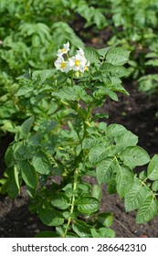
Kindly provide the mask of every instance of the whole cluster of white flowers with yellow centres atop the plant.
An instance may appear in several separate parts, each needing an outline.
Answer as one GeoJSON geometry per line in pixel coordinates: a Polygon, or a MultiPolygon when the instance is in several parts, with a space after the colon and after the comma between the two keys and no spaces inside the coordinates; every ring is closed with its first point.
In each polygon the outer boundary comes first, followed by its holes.
{"type": "Polygon", "coordinates": [[[71,58],[68,57],[69,42],[64,44],[64,47],[58,49],[58,59],[54,62],[56,69],[61,72],[68,72],[69,70],[84,72],[90,66],[90,61],[85,58],[82,48],[77,50],[77,54],[71,58]]]}

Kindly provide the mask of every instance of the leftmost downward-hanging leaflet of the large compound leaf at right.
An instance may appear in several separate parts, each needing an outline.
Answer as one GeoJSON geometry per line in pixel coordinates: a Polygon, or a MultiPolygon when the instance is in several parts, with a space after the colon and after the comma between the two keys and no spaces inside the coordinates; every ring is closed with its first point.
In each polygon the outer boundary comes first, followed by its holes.
{"type": "Polygon", "coordinates": [[[114,172],[118,169],[118,165],[113,158],[107,157],[97,165],[97,180],[99,184],[108,183],[114,172]]]}

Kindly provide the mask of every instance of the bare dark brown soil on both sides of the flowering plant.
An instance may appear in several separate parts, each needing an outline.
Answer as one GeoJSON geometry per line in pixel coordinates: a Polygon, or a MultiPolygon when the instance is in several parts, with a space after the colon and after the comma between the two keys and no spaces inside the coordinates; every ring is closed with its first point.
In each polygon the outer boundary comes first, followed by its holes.
{"type": "MultiPolygon", "coordinates": [[[[130,97],[120,95],[120,101],[106,101],[101,112],[109,112],[110,118],[104,120],[109,123],[121,123],[127,129],[139,135],[139,144],[152,156],[158,154],[158,119],[155,112],[158,111],[158,97],[148,97],[138,92],[134,85],[126,86],[130,97]]],[[[10,137],[4,137],[1,141],[0,176],[4,170],[4,153],[7,145],[12,141],[10,137]]],[[[158,237],[158,217],[153,221],[143,224],[135,224],[135,212],[125,213],[123,200],[117,195],[108,195],[106,187],[103,187],[101,210],[111,211],[114,214],[112,228],[116,237],[158,237]]],[[[24,238],[33,237],[41,230],[50,230],[44,226],[36,215],[28,211],[28,198],[25,189],[22,195],[12,200],[0,196],[0,237],[24,238]]]]}

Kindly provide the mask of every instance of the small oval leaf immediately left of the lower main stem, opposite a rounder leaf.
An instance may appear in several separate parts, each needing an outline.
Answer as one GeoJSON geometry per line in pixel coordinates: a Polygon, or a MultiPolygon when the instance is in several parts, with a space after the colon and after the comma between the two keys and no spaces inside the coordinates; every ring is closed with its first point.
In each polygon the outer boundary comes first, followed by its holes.
{"type": "Polygon", "coordinates": [[[70,206],[69,198],[63,193],[60,193],[57,196],[55,195],[51,200],[51,204],[60,209],[66,209],[70,206]]]}

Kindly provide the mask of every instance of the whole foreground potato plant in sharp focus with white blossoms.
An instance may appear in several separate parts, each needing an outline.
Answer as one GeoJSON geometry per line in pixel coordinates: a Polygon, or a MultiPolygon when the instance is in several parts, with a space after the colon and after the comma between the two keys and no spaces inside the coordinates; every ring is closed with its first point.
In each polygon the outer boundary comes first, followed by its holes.
{"type": "Polygon", "coordinates": [[[100,113],[108,97],[118,101],[118,91],[128,95],[121,77],[128,73],[123,65],[129,51],[69,52],[66,43],[58,50],[56,69],[18,78],[16,97],[34,96],[34,104],[45,100],[50,112],[47,120],[34,112],[16,126],[15,141],[5,153],[1,193],[15,198],[26,186],[30,211],[52,227],[37,237],[111,238],[113,215],[100,210],[101,186],[124,198],[127,212],[137,210],[137,223],[150,221],[158,212],[158,155],[151,159],[121,124],[100,122],[108,118],[100,113]]]}

